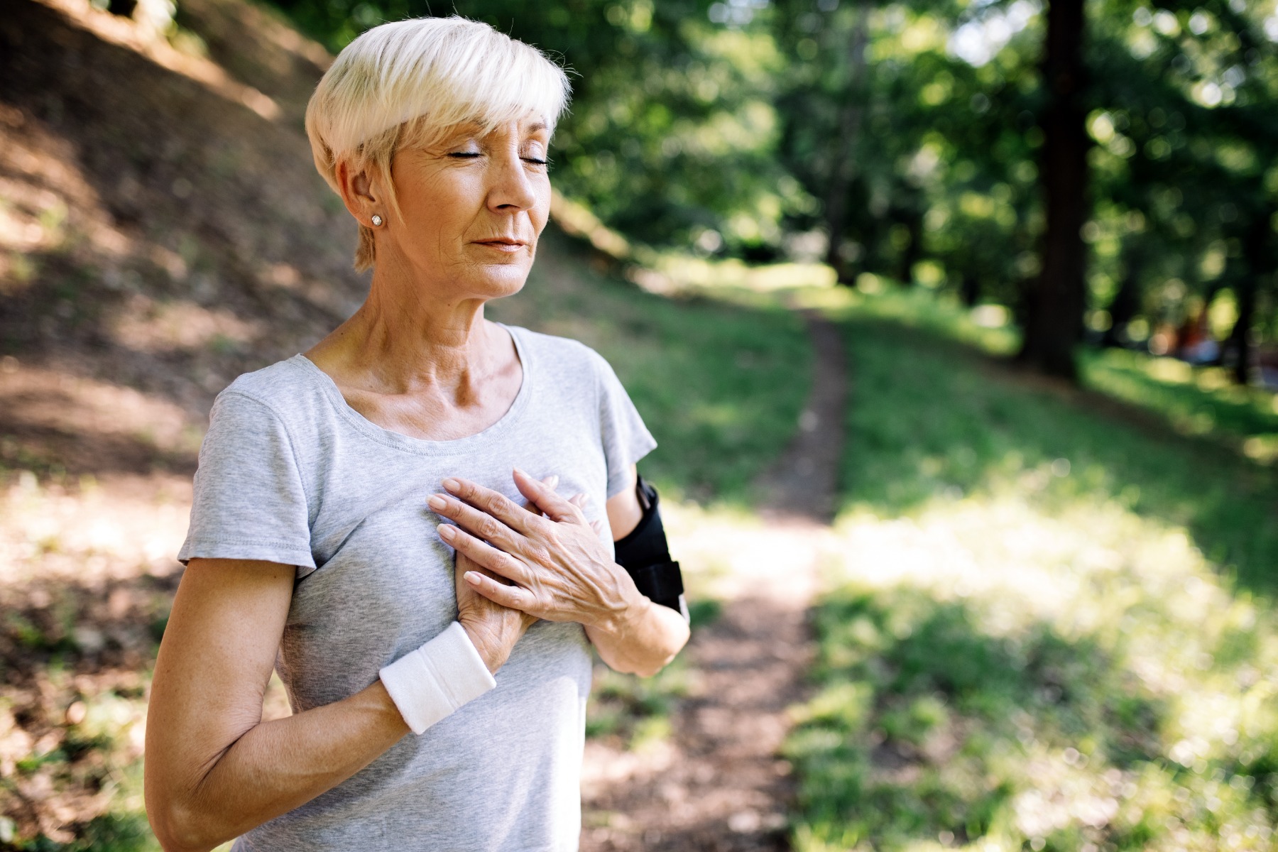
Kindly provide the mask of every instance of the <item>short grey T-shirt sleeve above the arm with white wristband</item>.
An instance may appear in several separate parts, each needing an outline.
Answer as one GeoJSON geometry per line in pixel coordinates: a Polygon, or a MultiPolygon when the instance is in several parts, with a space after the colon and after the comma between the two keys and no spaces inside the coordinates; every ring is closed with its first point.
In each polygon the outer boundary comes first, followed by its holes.
{"type": "Polygon", "coordinates": [[[263,402],[224,391],[199,447],[190,529],[178,553],[265,559],[313,570],[305,491],[280,418],[263,402]]]}

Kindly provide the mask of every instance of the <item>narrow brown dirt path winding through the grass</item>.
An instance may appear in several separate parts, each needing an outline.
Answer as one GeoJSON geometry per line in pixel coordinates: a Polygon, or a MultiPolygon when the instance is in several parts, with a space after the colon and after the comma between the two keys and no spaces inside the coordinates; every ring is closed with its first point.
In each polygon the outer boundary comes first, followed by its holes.
{"type": "Polygon", "coordinates": [[[814,314],[808,323],[813,391],[794,443],[760,478],[766,524],[718,535],[731,566],[723,611],[685,651],[699,688],[657,747],[587,743],[583,852],[789,848],[794,782],[777,750],[812,657],[805,613],[835,508],[847,387],[837,328],[814,314]]]}

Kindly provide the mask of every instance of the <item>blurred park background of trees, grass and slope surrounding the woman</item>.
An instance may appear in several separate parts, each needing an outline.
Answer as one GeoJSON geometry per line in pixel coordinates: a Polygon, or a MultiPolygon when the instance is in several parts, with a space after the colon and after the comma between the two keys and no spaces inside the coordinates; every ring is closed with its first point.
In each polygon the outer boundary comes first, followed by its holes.
{"type": "Polygon", "coordinates": [[[367,287],[307,98],[454,10],[573,70],[491,316],[612,361],[694,593],[583,847],[1278,846],[1274,0],[442,6],[0,0],[0,849],[157,848],[210,404],[367,287]]]}

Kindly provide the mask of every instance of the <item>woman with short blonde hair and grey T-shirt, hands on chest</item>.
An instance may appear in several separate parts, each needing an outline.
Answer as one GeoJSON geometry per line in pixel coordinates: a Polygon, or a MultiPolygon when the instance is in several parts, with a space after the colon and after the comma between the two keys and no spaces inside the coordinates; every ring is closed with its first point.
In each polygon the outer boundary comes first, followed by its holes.
{"type": "Polygon", "coordinates": [[[616,376],[483,316],[528,277],[566,96],[460,18],[377,27],[321,80],[372,285],[213,405],[147,724],[166,849],[576,848],[588,645],[651,674],[688,640],[613,561],[654,446],[616,376]],[[263,722],[272,668],[294,714],[263,722]]]}

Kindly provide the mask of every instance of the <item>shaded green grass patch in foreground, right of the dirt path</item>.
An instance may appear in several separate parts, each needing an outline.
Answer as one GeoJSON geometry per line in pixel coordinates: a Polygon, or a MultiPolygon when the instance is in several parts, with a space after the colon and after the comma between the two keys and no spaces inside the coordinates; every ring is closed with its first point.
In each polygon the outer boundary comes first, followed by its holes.
{"type": "Polygon", "coordinates": [[[1047,625],[990,635],[983,622],[962,602],[911,588],[827,599],[823,691],[789,747],[804,777],[804,839],[966,844],[1005,834],[1028,806],[1044,821],[1033,837],[1051,837],[1049,848],[1148,838],[1139,823],[1111,820],[1125,784],[1158,766],[1159,700],[1094,641],[1047,625]],[[1044,801],[1031,803],[1026,784],[1044,801]],[[1070,801],[1051,801],[1057,788],[1070,801]],[[1056,825],[1062,809],[1061,821],[1081,814],[1081,828],[1056,825]]]}

